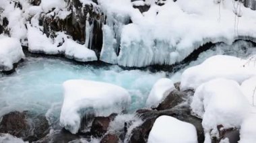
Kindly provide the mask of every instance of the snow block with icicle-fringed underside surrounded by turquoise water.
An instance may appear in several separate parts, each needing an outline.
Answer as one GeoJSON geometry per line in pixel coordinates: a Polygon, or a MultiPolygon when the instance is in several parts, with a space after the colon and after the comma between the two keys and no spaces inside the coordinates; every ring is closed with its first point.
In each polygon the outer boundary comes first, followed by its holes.
{"type": "Polygon", "coordinates": [[[69,80],[63,87],[60,123],[73,134],[79,130],[82,112],[96,115],[120,113],[131,100],[126,89],[110,83],[69,80]]]}

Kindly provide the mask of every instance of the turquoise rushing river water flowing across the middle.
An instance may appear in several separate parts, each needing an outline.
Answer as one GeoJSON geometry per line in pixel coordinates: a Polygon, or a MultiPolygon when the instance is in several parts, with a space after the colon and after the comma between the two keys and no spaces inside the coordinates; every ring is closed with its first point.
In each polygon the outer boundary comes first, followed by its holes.
{"type": "Polygon", "coordinates": [[[60,111],[62,83],[69,79],[103,81],[124,87],[131,94],[129,112],[143,107],[150,89],[166,73],[123,70],[119,66],[93,66],[51,58],[27,58],[9,76],[0,77],[0,116],[13,110],[42,113],[60,111]]]}

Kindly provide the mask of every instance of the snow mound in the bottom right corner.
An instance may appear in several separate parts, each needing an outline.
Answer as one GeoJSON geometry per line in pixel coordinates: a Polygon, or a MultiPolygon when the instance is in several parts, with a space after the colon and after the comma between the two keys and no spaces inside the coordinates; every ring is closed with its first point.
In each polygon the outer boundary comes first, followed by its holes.
{"type": "Polygon", "coordinates": [[[256,115],[251,114],[247,117],[240,130],[240,141],[239,143],[255,143],[256,141],[256,115]]]}

